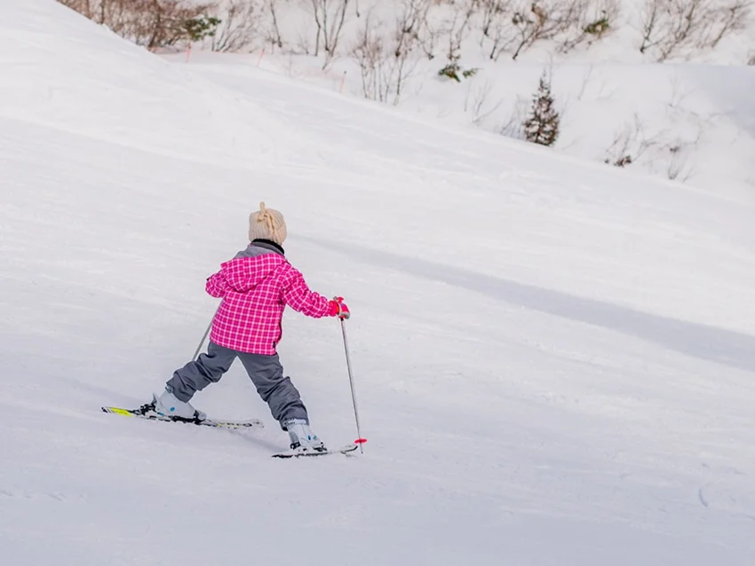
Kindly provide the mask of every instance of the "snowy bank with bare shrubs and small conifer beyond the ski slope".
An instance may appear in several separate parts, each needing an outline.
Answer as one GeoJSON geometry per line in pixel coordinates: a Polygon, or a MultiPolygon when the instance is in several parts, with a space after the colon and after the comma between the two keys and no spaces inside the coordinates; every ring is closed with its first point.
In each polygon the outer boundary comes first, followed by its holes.
{"type": "MultiPolygon", "coordinates": [[[[495,33],[483,34],[486,22],[494,28],[508,25],[505,16],[508,12],[494,17],[491,24],[492,16],[485,6],[494,2],[362,0],[348,4],[335,56],[329,58],[323,51],[322,37],[320,49],[315,49],[318,28],[313,5],[328,6],[332,26],[342,3],[258,0],[257,23],[248,30],[250,44],[246,49],[254,51],[250,56],[218,53],[208,56],[195,48],[191,61],[203,67],[239,65],[242,67],[239,73],[245,72],[246,67],[260,65],[330,90],[384,100],[409,112],[456,124],[472,124],[509,137],[521,136],[521,122],[530,109],[538,78],[546,71],[552,75],[552,94],[561,114],[556,150],[609,165],[628,158],[632,161],[628,167],[635,171],[694,186],[714,186],[721,194],[751,202],[755,198],[755,167],[751,160],[755,154],[755,106],[751,101],[755,67],[746,67],[745,63],[755,56],[755,20],[751,12],[743,11],[741,28],[725,35],[715,48],[681,43],[661,64],[656,63],[657,48],[640,53],[643,18],[647,17],[647,4],[651,2],[534,3],[547,10],[577,4],[591,6],[585,12],[582,26],[606,13],[610,29],[600,40],[588,37],[590,41],[584,40],[569,50],[561,49],[563,34],[545,38],[521,51],[513,61],[515,41],[496,60],[490,59],[495,33]],[[275,6],[277,31],[271,28],[269,10],[263,4],[275,6]],[[473,15],[466,20],[465,10],[470,6],[474,6],[473,15]],[[413,11],[422,13],[412,24],[418,40],[397,35],[397,29],[405,29],[407,22],[412,21],[407,20],[406,14],[413,11]],[[365,35],[366,29],[369,33],[365,35]],[[270,43],[271,36],[280,36],[280,47],[270,43]],[[359,52],[371,53],[371,59],[368,58],[371,70],[369,64],[360,66],[354,52],[364,37],[372,42],[368,43],[372,51],[364,47],[359,52]],[[401,47],[397,37],[404,38],[401,47]],[[458,66],[476,71],[468,78],[459,74],[461,83],[438,75],[448,65],[449,50],[454,44],[457,44],[453,52],[459,58],[458,66]],[[396,49],[410,49],[401,66],[401,84],[397,59],[393,58],[396,49]],[[319,55],[314,57],[314,53],[319,55]],[[428,53],[433,59],[428,59],[428,53]]],[[[506,10],[518,6],[524,14],[534,5],[528,1],[498,4],[506,10]]],[[[667,4],[692,5],[693,1],[667,4]]],[[[715,8],[731,13],[727,8],[746,3],[703,0],[696,4],[696,13],[703,14],[703,9],[715,8]]],[[[226,12],[219,15],[228,25],[233,23],[242,28],[241,17],[229,20],[226,12]]],[[[695,19],[705,17],[696,15],[695,19]]],[[[708,23],[711,28],[716,27],[715,22],[708,23]]],[[[660,29],[661,24],[658,26],[660,29]]],[[[701,40],[707,29],[702,21],[699,28],[697,23],[690,24],[690,28],[695,40],[701,40]]],[[[511,35],[511,26],[505,32],[511,35]]],[[[225,24],[219,33],[227,33],[225,24]]],[[[661,40],[673,34],[671,30],[661,33],[656,29],[656,35],[661,40]]],[[[216,38],[203,47],[209,48],[212,41],[218,44],[216,38]]],[[[184,63],[186,57],[179,54],[171,60],[184,63]]]]}

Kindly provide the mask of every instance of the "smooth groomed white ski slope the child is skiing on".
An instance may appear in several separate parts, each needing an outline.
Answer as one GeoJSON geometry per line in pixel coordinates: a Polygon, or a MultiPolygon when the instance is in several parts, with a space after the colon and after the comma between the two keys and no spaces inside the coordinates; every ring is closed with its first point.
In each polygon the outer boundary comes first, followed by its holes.
{"type": "MultiPolygon", "coordinates": [[[[751,564],[749,205],[0,11],[0,562],[751,564]],[[259,200],[354,311],[363,455],[270,459],[241,366],[195,402],[259,433],[98,413],[191,355],[259,200]]],[[[338,325],[281,355],[351,440],[338,325]]]]}

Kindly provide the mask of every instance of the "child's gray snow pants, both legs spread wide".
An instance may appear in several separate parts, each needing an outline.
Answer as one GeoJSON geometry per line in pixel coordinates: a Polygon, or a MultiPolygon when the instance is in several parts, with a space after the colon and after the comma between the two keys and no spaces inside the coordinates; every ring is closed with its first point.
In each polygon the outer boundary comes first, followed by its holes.
{"type": "Polygon", "coordinates": [[[207,353],[200,354],[196,361],[176,370],[167,385],[179,401],[187,403],[196,391],[220,381],[236,358],[242,360],[259,397],[270,407],[270,413],[273,413],[276,421],[282,423],[289,419],[304,419],[309,422],[306,406],[301,401],[298,389],[290,378],[283,377],[283,367],[277,354],[249,354],[228,350],[210,342],[207,353]]]}

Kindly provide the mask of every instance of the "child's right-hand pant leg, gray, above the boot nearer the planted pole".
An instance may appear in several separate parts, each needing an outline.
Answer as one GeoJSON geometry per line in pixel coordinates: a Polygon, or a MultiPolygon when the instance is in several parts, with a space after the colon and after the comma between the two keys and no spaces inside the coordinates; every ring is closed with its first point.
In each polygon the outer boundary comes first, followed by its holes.
{"type": "Polygon", "coordinates": [[[275,421],[303,419],[309,422],[306,406],[290,378],[283,376],[283,367],[277,354],[263,356],[237,352],[237,355],[257,388],[259,397],[270,407],[275,421]]]}

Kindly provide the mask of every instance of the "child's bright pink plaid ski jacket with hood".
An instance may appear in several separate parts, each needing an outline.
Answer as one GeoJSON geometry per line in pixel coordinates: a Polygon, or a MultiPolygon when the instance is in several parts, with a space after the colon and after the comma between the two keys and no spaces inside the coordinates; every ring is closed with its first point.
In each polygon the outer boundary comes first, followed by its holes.
{"type": "Polygon", "coordinates": [[[283,255],[254,245],[222,263],[206,289],[223,298],[212,319],[211,342],[241,352],[275,353],[287,304],[313,318],[330,310],[328,299],[311,291],[283,255]]]}

